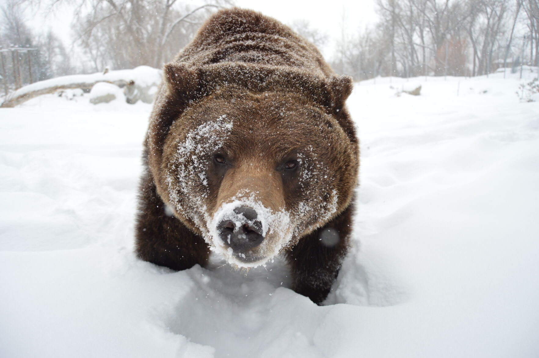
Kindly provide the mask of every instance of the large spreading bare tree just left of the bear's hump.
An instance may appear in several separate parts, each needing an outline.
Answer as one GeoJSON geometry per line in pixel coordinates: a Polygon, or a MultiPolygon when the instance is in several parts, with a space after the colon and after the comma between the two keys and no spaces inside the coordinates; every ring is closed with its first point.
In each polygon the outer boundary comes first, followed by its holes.
{"type": "Polygon", "coordinates": [[[87,3],[91,10],[77,13],[75,33],[96,70],[108,66],[161,67],[188,43],[211,10],[225,4],[216,0],[191,8],[177,0],[87,0],[87,3]]]}

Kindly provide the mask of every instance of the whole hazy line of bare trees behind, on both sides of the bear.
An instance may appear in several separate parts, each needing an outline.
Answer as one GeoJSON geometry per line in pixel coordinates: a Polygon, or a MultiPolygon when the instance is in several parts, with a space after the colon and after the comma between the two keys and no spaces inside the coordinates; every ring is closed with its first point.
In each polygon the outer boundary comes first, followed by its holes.
{"type": "MultiPolygon", "coordinates": [[[[376,0],[378,23],[342,31],[328,56],[356,80],[375,76],[467,75],[538,65],[539,0],[376,0]]],[[[70,48],[50,29],[34,33],[25,6],[54,11],[56,0],[8,0],[0,13],[3,92],[60,75],[161,67],[230,0],[74,0],[70,48]]],[[[328,36],[308,20],[291,24],[317,46],[328,36]]],[[[344,29],[344,26],[343,26],[344,29]]]]}

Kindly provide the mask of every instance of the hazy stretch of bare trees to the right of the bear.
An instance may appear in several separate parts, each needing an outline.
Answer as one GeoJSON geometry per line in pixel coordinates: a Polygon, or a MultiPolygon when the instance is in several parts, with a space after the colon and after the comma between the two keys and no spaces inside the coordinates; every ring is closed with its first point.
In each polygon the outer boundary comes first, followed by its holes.
{"type": "Polygon", "coordinates": [[[537,66],[537,0],[377,0],[379,21],[343,34],[333,67],[375,76],[476,76],[537,66]]]}

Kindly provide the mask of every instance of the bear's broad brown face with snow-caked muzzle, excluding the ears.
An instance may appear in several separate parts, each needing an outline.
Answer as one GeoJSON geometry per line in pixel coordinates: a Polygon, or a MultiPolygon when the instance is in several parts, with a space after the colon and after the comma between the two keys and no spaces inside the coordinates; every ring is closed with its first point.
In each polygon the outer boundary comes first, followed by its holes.
{"type": "Polygon", "coordinates": [[[354,149],[333,116],[299,95],[227,89],[171,125],[158,189],[212,250],[257,266],[348,205],[354,149]]]}

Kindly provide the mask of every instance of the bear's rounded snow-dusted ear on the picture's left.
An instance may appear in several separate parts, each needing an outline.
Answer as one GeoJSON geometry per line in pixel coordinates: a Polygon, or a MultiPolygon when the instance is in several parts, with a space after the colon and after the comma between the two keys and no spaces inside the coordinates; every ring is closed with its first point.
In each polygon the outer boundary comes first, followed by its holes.
{"type": "Polygon", "coordinates": [[[180,106],[186,106],[189,102],[198,99],[201,94],[198,71],[189,69],[185,64],[174,62],[165,64],[163,83],[167,87],[168,94],[174,97],[180,106]]]}

